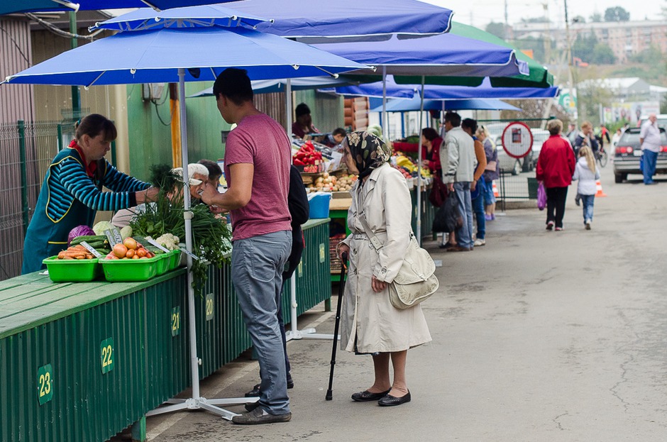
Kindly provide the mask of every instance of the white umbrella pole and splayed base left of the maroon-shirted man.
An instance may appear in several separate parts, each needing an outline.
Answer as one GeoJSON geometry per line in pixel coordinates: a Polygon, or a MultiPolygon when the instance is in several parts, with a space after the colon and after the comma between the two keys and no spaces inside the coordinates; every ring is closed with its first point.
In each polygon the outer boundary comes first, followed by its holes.
{"type": "Polygon", "coordinates": [[[199,395],[199,358],[197,358],[197,315],[194,313],[194,288],[192,288],[192,211],[190,211],[190,187],[187,176],[187,118],[185,116],[185,70],[178,70],[178,105],[181,128],[181,158],[183,162],[183,219],[185,220],[185,249],[187,257],[187,319],[190,343],[190,371],[192,376],[192,397],[189,399],[169,399],[160,408],[148,411],[146,416],[170,413],[172,411],[205,409],[228,421],[238,414],[216,407],[216,405],[246,404],[257,402],[258,397],[238,397],[231,399],[206,399],[199,395]]]}

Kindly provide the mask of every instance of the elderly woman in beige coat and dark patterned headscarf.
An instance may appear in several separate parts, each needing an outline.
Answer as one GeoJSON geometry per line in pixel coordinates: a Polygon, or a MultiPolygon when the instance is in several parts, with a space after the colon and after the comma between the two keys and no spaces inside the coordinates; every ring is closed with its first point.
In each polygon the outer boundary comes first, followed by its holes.
{"type": "Polygon", "coordinates": [[[341,347],[373,355],[375,382],[353,394],[352,399],[391,407],[411,399],[405,379],[407,350],[431,341],[421,307],[396,309],[387,289],[403,263],[412,235],[412,201],[404,177],[387,163],[391,151],[380,138],[353,132],[344,146],[346,165],[359,179],[350,191],[348,228],[352,233],[338,245],[338,256],[348,253],[350,259],[341,314],[341,347]],[[362,218],[382,241],[379,250],[371,246],[362,218]]]}

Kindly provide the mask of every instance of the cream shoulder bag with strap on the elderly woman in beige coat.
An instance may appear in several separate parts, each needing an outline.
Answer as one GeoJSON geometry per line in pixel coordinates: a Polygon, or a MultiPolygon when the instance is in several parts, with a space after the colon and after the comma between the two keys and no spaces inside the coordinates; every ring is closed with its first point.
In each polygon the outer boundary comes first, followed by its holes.
{"type": "MultiPolygon", "coordinates": [[[[380,251],[384,245],[368,226],[365,214],[360,214],[361,225],[375,250],[380,251]]],[[[410,243],[405,251],[403,264],[398,274],[388,284],[389,297],[397,309],[409,309],[434,294],[440,287],[435,275],[436,264],[429,252],[419,247],[414,233],[410,232],[410,243]]]]}

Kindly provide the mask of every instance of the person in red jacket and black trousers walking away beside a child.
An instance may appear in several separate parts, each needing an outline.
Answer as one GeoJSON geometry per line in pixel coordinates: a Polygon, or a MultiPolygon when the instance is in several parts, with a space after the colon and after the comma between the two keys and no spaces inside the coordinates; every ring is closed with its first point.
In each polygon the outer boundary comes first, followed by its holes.
{"type": "Polygon", "coordinates": [[[561,136],[563,122],[551,120],[546,125],[551,136],[542,145],[537,159],[536,178],[544,182],[546,188],[546,230],[563,230],[565,201],[568,197],[568,186],[574,174],[574,150],[570,142],[561,136]]]}

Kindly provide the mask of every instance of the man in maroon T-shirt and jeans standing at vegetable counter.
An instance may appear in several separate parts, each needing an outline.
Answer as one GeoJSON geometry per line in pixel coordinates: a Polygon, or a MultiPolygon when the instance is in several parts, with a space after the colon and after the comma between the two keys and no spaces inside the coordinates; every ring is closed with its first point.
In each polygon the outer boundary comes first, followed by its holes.
{"type": "Polygon", "coordinates": [[[292,248],[292,218],[287,208],[291,143],[280,124],[255,108],[245,70],[221,72],[213,94],[222,118],[237,127],[225,145],[227,191],[219,194],[206,185],[202,200],[231,214],[231,279],[262,378],[256,407],[248,407],[251,411],[234,416],[232,422],[286,422],[292,413],[277,308],[282,270],[292,248]]]}

